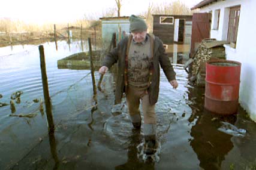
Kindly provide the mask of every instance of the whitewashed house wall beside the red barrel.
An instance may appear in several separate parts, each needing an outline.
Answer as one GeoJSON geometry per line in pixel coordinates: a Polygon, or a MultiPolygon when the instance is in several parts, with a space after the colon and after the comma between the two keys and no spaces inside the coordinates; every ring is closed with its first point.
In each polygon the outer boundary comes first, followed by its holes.
{"type": "MultiPolygon", "coordinates": [[[[229,44],[226,44],[225,52],[227,60],[242,63],[239,103],[249,113],[251,119],[256,122],[256,1],[218,1],[201,8],[200,12],[212,11],[213,13],[215,10],[221,10],[219,29],[212,29],[210,38],[227,40],[229,8],[236,5],[241,5],[236,48],[231,48],[229,44]]],[[[212,28],[213,24],[214,22],[212,22],[212,28]]]]}

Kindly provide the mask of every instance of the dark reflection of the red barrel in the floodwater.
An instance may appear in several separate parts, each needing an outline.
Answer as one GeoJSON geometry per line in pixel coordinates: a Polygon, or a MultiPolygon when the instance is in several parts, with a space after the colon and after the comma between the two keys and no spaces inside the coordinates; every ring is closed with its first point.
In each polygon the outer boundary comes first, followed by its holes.
{"type": "MultiPolygon", "coordinates": [[[[196,92],[195,94],[202,94],[198,91],[194,92],[196,92]]],[[[201,96],[197,95],[195,100],[197,100],[195,103],[203,103],[201,96]]],[[[203,104],[201,106],[203,107],[203,104]]],[[[225,156],[234,146],[231,141],[232,136],[219,131],[218,128],[222,125],[221,121],[234,125],[236,115],[215,115],[204,108],[196,108],[193,105],[191,108],[192,114],[189,122],[197,119],[191,128],[190,146],[200,160],[200,167],[203,169],[221,169],[222,161],[225,160],[225,156]]]]}

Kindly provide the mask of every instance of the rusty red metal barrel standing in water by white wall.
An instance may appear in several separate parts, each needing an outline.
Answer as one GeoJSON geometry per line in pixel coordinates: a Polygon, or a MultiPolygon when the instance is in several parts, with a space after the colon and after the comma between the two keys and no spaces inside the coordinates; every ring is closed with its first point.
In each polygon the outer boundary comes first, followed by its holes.
{"type": "Polygon", "coordinates": [[[204,107],[214,113],[237,112],[241,63],[230,60],[207,61],[204,107]]]}

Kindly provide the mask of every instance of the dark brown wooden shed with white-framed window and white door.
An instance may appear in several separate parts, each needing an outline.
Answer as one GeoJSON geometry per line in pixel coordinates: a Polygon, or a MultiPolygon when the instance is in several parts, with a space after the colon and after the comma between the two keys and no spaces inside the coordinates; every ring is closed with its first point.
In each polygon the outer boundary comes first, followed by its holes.
{"type": "Polygon", "coordinates": [[[153,34],[164,44],[174,43],[174,27],[176,26],[176,42],[190,44],[192,16],[188,15],[153,15],[153,34]]]}

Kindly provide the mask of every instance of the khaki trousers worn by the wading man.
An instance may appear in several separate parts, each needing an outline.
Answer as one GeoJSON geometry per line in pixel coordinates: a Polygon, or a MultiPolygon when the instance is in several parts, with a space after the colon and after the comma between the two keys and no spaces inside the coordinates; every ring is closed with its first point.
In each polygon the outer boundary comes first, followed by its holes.
{"type": "Polygon", "coordinates": [[[144,124],[156,124],[155,104],[150,105],[149,95],[145,89],[129,86],[126,99],[132,122],[139,122],[141,120],[139,110],[141,101],[144,124]]]}

